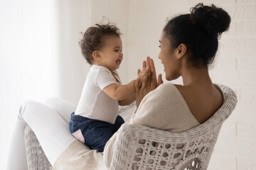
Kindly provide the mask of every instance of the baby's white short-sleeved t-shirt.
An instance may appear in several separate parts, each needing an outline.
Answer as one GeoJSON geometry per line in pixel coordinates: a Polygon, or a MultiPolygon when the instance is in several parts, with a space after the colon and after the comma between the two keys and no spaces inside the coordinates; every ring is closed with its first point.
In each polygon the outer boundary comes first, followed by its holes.
{"type": "Polygon", "coordinates": [[[119,104],[103,91],[110,84],[121,85],[117,72],[110,72],[106,67],[93,64],[87,74],[75,115],[114,124],[119,104]]]}

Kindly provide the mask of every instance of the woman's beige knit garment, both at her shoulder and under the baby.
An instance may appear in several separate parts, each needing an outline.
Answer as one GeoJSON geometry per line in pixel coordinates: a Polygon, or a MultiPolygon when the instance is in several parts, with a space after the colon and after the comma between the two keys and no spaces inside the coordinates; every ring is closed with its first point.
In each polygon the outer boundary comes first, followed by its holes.
{"type": "MultiPolygon", "coordinates": [[[[147,94],[139,105],[137,113],[132,115],[130,123],[174,132],[188,130],[199,125],[183,96],[176,89],[176,86],[171,83],[161,84],[156,90],[147,94]]],[[[71,143],[63,154],[58,157],[54,169],[97,169],[99,165],[101,165],[101,169],[108,169],[112,161],[117,133],[118,131],[107,142],[103,157],[99,152],[93,152],[93,157],[91,157],[92,150],[86,147],[78,155],[72,149],[74,145],[79,145],[78,141],[71,143]],[[90,161],[88,161],[88,157],[91,157],[90,161]],[[80,159],[80,162],[88,162],[85,165],[74,164],[72,162],[73,159],[80,159]],[[63,166],[64,162],[65,166],[63,166]],[[102,164],[102,162],[105,162],[105,164],[102,164]]]]}

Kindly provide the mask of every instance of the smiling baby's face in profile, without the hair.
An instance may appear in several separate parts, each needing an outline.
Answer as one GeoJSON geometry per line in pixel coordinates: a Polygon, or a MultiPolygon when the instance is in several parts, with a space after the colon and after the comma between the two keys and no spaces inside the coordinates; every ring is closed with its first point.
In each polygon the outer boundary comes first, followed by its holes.
{"type": "Polygon", "coordinates": [[[122,40],[116,35],[109,35],[102,40],[103,47],[100,50],[100,65],[110,71],[119,69],[123,59],[122,40]]]}

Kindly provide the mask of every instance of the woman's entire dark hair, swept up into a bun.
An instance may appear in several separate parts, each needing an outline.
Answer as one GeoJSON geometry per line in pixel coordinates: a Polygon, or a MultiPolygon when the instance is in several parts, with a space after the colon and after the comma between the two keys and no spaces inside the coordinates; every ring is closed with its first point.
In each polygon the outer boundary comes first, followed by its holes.
{"type": "Polygon", "coordinates": [[[218,38],[230,26],[230,16],[222,8],[202,3],[191,8],[190,14],[171,19],[164,33],[173,48],[181,43],[187,46],[188,60],[194,67],[211,64],[218,50],[218,38]]]}

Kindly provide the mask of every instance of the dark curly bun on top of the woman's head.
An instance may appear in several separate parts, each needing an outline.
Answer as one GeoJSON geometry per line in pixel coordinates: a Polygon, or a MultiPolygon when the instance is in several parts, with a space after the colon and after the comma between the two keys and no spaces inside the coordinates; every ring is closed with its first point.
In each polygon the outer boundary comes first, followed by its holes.
{"type": "Polygon", "coordinates": [[[213,4],[204,6],[200,3],[191,8],[190,20],[213,38],[218,38],[230,26],[228,13],[213,4]]]}

